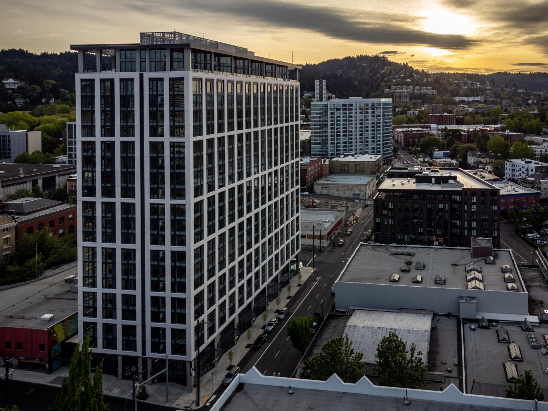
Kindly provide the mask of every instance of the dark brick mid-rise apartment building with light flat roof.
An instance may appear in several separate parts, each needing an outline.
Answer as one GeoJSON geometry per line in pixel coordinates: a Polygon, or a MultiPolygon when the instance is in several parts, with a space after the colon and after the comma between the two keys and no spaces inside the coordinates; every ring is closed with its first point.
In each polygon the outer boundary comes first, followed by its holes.
{"type": "Polygon", "coordinates": [[[375,242],[470,247],[500,245],[499,189],[460,168],[395,168],[373,199],[375,242]]]}

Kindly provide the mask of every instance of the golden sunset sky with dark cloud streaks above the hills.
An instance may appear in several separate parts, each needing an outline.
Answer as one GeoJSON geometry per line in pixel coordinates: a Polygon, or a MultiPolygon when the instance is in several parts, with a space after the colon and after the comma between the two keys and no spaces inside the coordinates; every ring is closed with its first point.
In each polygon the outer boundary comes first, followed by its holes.
{"type": "Polygon", "coordinates": [[[548,71],[548,0],[3,0],[0,48],[180,31],[298,64],[384,54],[429,71],[548,71]]]}

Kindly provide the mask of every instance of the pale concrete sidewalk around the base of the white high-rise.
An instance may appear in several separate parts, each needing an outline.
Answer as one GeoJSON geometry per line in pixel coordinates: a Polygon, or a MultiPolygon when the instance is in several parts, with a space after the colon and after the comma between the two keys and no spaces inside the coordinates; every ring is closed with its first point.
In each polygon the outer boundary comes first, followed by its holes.
{"type": "MultiPolygon", "coordinates": [[[[301,284],[303,284],[307,278],[310,277],[314,270],[310,267],[302,267],[302,279],[301,284]]],[[[299,283],[299,277],[295,276],[290,280],[292,285],[291,295],[295,295],[300,287],[297,287],[299,283]]],[[[279,308],[282,309],[287,300],[287,286],[284,287],[280,296],[282,302],[280,303],[279,308]]],[[[266,312],[268,318],[275,317],[276,314],[276,301],[272,301],[267,307],[266,312]]],[[[252,338],[250,343],[252,344],[260,334],[263,333],[262,330],[262,319],[256,318],[255,322],[251,327],[252,338]]],[[[247,346],[247,330],[241,335],[235,346],[232,347],[232,352],[234,357],[232,358],[232,364],[238,364],[242,358],[249,352],[246,348],[247,346]]],[[[209,370],[200,378],[200,396],[201,396],[201,406],[207,402],[207,400],[213,395],[216,389],[221,385],[222,379],[225,377],[226,369],[229,367],[229,360],[227,358],[227,353],[224,353],[215,368],[209,370]]],[[[46,384],[52,386],[61,386],[62,380],[68,375],[68,366],[61,367],[55,370],[51,374],[43,374],[35,371],[28,371],[22,369],[13,370],[13,379],[17,381],[27,381],[35,384],[46,384]]],[[[103,374],[103,392],[107,395],[114,395],[118,397],[125,397],[132,399],[131,387],[132,383],[128,380],[118,380],[115,376],[103,374]]],[[[149,394],[149,398],[146,399],[146,402],[151,402],[155,404],[161,404],[165,406],[175,407],[175,408],[185,408],[185,409],[195,409],[198,408],[195,406],[194,402],[196,399],[196,392],[186,392],[178,386],[169,384],[169,401],[165,402],[165,384],[152,384],[146,386],[146,392],[149,394]]]]}

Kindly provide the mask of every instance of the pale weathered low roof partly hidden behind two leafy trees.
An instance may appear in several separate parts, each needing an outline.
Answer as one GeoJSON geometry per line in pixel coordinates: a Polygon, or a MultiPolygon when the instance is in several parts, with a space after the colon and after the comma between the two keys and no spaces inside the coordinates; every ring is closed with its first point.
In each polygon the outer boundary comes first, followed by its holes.
{"type": "Polygon", "coordinates": [[[416,351],[423,353],[421,358],[427,364],[431,327],[432,311],[429,310],[425,310],[424,315],[419,310],[356,310],[346,323],[344,334],[352,341],[353,349],[363,353],[364,363],[375,363],[376,348],[380,341],[394,332],[408,347],[415,344],[416,351]]]}

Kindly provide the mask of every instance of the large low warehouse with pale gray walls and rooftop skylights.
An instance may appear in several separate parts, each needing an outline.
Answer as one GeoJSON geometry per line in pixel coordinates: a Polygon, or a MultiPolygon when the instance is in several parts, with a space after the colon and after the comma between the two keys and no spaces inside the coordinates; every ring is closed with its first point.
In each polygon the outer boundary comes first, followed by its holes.
{"type": "Polygon", "coordinates": [[[472,243],[478,246],[361,243],[335,282],[336,310],[403,307],[472,319],[527,317],[538,323],[528,315],[527,289],[511,250],[472,243]]]}

